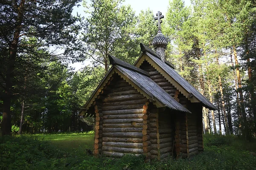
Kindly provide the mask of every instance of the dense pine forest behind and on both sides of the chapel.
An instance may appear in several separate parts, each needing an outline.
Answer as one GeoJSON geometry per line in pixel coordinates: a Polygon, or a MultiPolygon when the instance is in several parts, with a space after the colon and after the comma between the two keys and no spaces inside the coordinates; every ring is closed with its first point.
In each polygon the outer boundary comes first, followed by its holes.
{"type": "MultiPolygon", "coordinates": [[[[79,111],[110,68],[133,64],[157,34],[150,9],[123,0],[0,2],[0,123],[4,135],[90,130],[79,111]],[[74,71],[73,62],[90,62],[74,71]]],[[[163,19],[166,58],[219,111],[203,109],[204,133],[256,134],[256,3],[171,0],[163,19]]],[[[160,9],[161,10],[161,9],[160,9]]]]}

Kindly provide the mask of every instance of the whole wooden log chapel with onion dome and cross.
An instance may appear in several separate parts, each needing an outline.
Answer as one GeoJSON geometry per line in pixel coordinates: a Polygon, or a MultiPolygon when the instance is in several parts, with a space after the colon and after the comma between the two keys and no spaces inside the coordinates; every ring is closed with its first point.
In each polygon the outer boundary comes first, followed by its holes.
{"type": "Polygon", "coordinates": [[[204,150],[202,107],[217,108],[166,61],[161,18],[158,12],[156,52],[141,43],[134,65],[109,55],[112,67],[80,113],[95,117],[94,155],[160,160],[204,150]]]}

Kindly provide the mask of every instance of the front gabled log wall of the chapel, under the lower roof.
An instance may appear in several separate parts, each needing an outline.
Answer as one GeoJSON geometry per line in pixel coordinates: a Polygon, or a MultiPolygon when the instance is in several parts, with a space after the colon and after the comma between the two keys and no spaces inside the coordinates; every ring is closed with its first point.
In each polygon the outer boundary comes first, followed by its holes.
{"type": "Polygon", "coordinates": [[[149,134],[148,103],[128,82],[113,75],[94,106],[99,110],[99,114],[95,110],[94,155],[121,157],[125,153],[145,153],[150,157],[147,150],[150,142],[144,137],[149,134]]]}

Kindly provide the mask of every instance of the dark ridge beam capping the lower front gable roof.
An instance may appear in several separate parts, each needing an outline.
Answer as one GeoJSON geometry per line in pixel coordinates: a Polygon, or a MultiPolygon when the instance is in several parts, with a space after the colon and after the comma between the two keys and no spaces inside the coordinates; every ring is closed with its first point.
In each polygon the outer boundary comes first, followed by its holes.
{"type": "Polygon", "coordinates": [[[116,57],[114,57],[114,56],[112,56],[110,54],[108,55],[108,58],[109,58],[109,61],[110,61],[111,65],[119,65],[119,66],[121,66],[123,68],[127,68],[127,69],[129,69],[131,71],[135,71],[135,72],[140,73],[140,74],[142,74],[144,76],[150,77],[150,74],[148,74],[148,72],[146,72],[146,71],[144,71],[144,70],[142,70],[140,68],[137,68],[134,65],[131,65],[131,64],[127,63],[127,62],[124,62],[124,61],[122,61],[122,60],[120,60],[120,59],[118,59],[118,58],[116,58],[116,57]]]}

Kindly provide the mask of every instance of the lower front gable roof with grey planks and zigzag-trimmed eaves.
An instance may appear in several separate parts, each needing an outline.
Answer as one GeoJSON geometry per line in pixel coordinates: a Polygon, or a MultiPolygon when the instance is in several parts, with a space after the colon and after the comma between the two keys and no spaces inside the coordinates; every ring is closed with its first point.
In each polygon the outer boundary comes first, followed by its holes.
{"type": "Polygon", "coordinates": [[[123,79],[125,79],[130,85],[132,85],[143,96],[153,102],[157,108],[167,107],[175,111],[191,113],[183,105],[172,98],[163,88],[157,85],[152,79],[150,79],[148,73],[140,68],[136,68],[134,65],[130,65],[122,60],[117,59],[111,55],[108,56],[112,64],[111,69],[106,76],[102,79],[102,82],[98,85],[96,90],[90,96],[90,99],[84,105],[84,108],[80,112],[80,115],[90,108],[95,101],[96,97],[100,94],[104,86],[114,73],[117,73],[123,79]],[[145,73],[146,72],[146,73],[145,73]]]}

